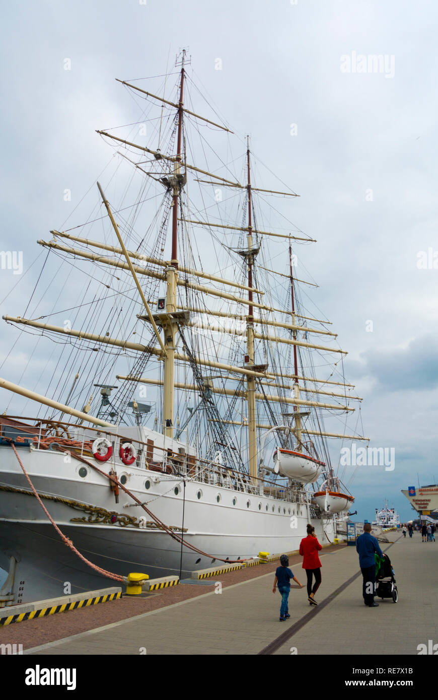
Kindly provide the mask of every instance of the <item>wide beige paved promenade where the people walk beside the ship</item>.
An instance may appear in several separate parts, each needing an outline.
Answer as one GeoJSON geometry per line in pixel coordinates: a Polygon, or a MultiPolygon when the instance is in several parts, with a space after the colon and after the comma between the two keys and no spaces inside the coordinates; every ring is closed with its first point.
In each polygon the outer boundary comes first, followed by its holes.
{"type": "MultiPolygon", "coordinates": [[[[24,654],[418,654],[418,644],[438,643],[438,542],[422,543],[418,533],[388,536],[393,544],[381,546],[395,569],[397,604],[378,598],[379,608],[366,608],[355,548],[339,547],[321,557],[320,607],[310,608],[306,588],[294,587],[286,622],[278,621],[280,596],[269,573],[220,593],[213,584],[196,598],[24,654]]],[[[290,568],[304,585],[294,559],[290,568]]]]}

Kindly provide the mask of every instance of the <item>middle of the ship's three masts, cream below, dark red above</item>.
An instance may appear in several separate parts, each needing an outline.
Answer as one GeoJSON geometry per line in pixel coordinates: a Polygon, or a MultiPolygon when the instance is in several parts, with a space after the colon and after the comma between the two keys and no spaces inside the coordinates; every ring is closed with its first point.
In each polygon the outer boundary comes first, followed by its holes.
{"type": "MultiPolygon", "coordinates": [[[[253,314],[253,262],[257,250],[253,250],[253,212],[251,202],[251,170],[249,137],[247,137],[246,162],[248,169],[248,235],[246,262],[248,264],[248,316],[246,317],[246,360],[250,366],[255,364],[254,357],[254,314],[253,314]]],[[[248,403],[248,466],[250,477],[257,477],[257,416],[255,414],[255,377],[246,378],[246,401],[248,403]]]]}

